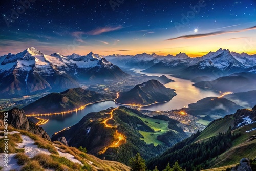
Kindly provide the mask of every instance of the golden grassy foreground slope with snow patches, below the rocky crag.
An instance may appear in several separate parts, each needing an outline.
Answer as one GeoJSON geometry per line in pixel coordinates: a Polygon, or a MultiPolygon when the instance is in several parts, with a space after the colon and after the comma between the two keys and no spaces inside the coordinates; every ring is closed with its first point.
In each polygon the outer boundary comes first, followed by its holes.
{"type": "MultiPolygon", "coordinates": [[[[1,128],[2,130],[2,128],[1,128]]],[[[125,170],[130,168],[122,163],[100,160],[77,148],[51,142],[24,130],[10,129],[8,137],[18,138],[9,145],[9,165],[0,163],[1,170],[125,170]],[[19,152],[19,153],[17,153],[19,152]]],[[[2,133],[1,133],[2,134],[2,133]]],[[[4,138],[0,138],[1,143],[4,138]]],[[[1,152],[2,148],[1,146],[1,152]]],[[[4,153],[0,153],[4,155],[4,153]]]]}

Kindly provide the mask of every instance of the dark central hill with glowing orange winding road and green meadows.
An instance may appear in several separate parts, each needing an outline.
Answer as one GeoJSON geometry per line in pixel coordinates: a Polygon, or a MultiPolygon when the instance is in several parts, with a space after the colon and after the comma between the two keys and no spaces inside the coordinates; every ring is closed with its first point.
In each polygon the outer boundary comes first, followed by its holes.
{"type": "Polygon", "coordinates": [[[177,121],[165,120],[147,117],[130,108],[111,108],[84,116],[70,129],[54,135],[52,140],[65,137],[70,146],[86,147],[89,153],[100,158],[127,164],[137,152],[148,159],[186,137],[183,130],[176,125],[177,121]],[[165,130],[159,131],[157,126],[165,127],[165,130]],[[166,131],[173,136],[166,135],[166,131]],[[155,146],[153,143],[144,142],[148,138],[145,133],[149,137],[154,134],[161,135],[163,145],[155,146]],[[168,146],[165,143],[169,143],[168,146]]]}

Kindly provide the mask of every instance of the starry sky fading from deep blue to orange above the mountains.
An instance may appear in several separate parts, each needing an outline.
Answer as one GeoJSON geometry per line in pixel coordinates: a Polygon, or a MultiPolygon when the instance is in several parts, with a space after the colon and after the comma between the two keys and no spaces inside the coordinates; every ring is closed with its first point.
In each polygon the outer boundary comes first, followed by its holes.
{"type": "Polygon", "coordinates": [[[65,55],[185,52],[195,57],[219,48],[256,53],[256,0],[111,0],[112,6],[109,0],[30,1],[24,10],[17,0],[0,2],[1,56],[28,47],[65,55]],[[20,11],[18,18],[11,18],[12,9],[20,11]]]}

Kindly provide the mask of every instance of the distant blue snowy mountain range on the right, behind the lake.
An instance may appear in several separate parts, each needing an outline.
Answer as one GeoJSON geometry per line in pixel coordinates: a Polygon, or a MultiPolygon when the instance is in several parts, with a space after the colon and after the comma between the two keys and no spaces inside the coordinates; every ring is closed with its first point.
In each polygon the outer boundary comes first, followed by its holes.
{"type": "Polygon", "coordinates": [[[222,48],[197,58],[190,58],[185,53],[176,56],[143,53],[135,56],[112,55],[105,58],[118,66],[140,68],[144,69],[144,72],[174,74],[186,79],[197,76],[217,78],[244,71],[256,73],[256,55],[239,54],[222,48]]]}

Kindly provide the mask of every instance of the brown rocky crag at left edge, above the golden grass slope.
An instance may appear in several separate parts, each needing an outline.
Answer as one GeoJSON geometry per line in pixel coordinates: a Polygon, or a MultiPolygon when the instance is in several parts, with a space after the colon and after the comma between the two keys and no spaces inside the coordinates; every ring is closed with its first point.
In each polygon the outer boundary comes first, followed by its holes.
{"type": "Polygon", "coordinates": [[[37,134],[42,138],[46,138],[51,141],[49,135],[45,132],[44,129],[34,124],[32,121],[28,120],[25,112],[23,110],[19,110],[18,108],[13,108],[7,112],[1,112],[0,121],[4,120],[4,113],[8,113],[8,124],[19,130],[25,130],[31,132],[33,134],[37,134]]]}

